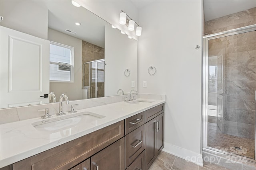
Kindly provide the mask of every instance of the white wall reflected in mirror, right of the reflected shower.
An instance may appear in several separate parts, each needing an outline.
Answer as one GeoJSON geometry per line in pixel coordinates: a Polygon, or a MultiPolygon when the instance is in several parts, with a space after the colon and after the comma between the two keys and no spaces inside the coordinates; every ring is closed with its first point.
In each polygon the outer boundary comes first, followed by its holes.
{"type": "Polygon", "coordinates": [[[113,96],[118,89],[129,93],[137,87],[137,41],[128,39],[118,29],[105,26],[105,96],[113,96]],[[124,76],[124,70],[130,76],[124,76]],[[132,88],[132,81],[135,87],[132,88]]]}

